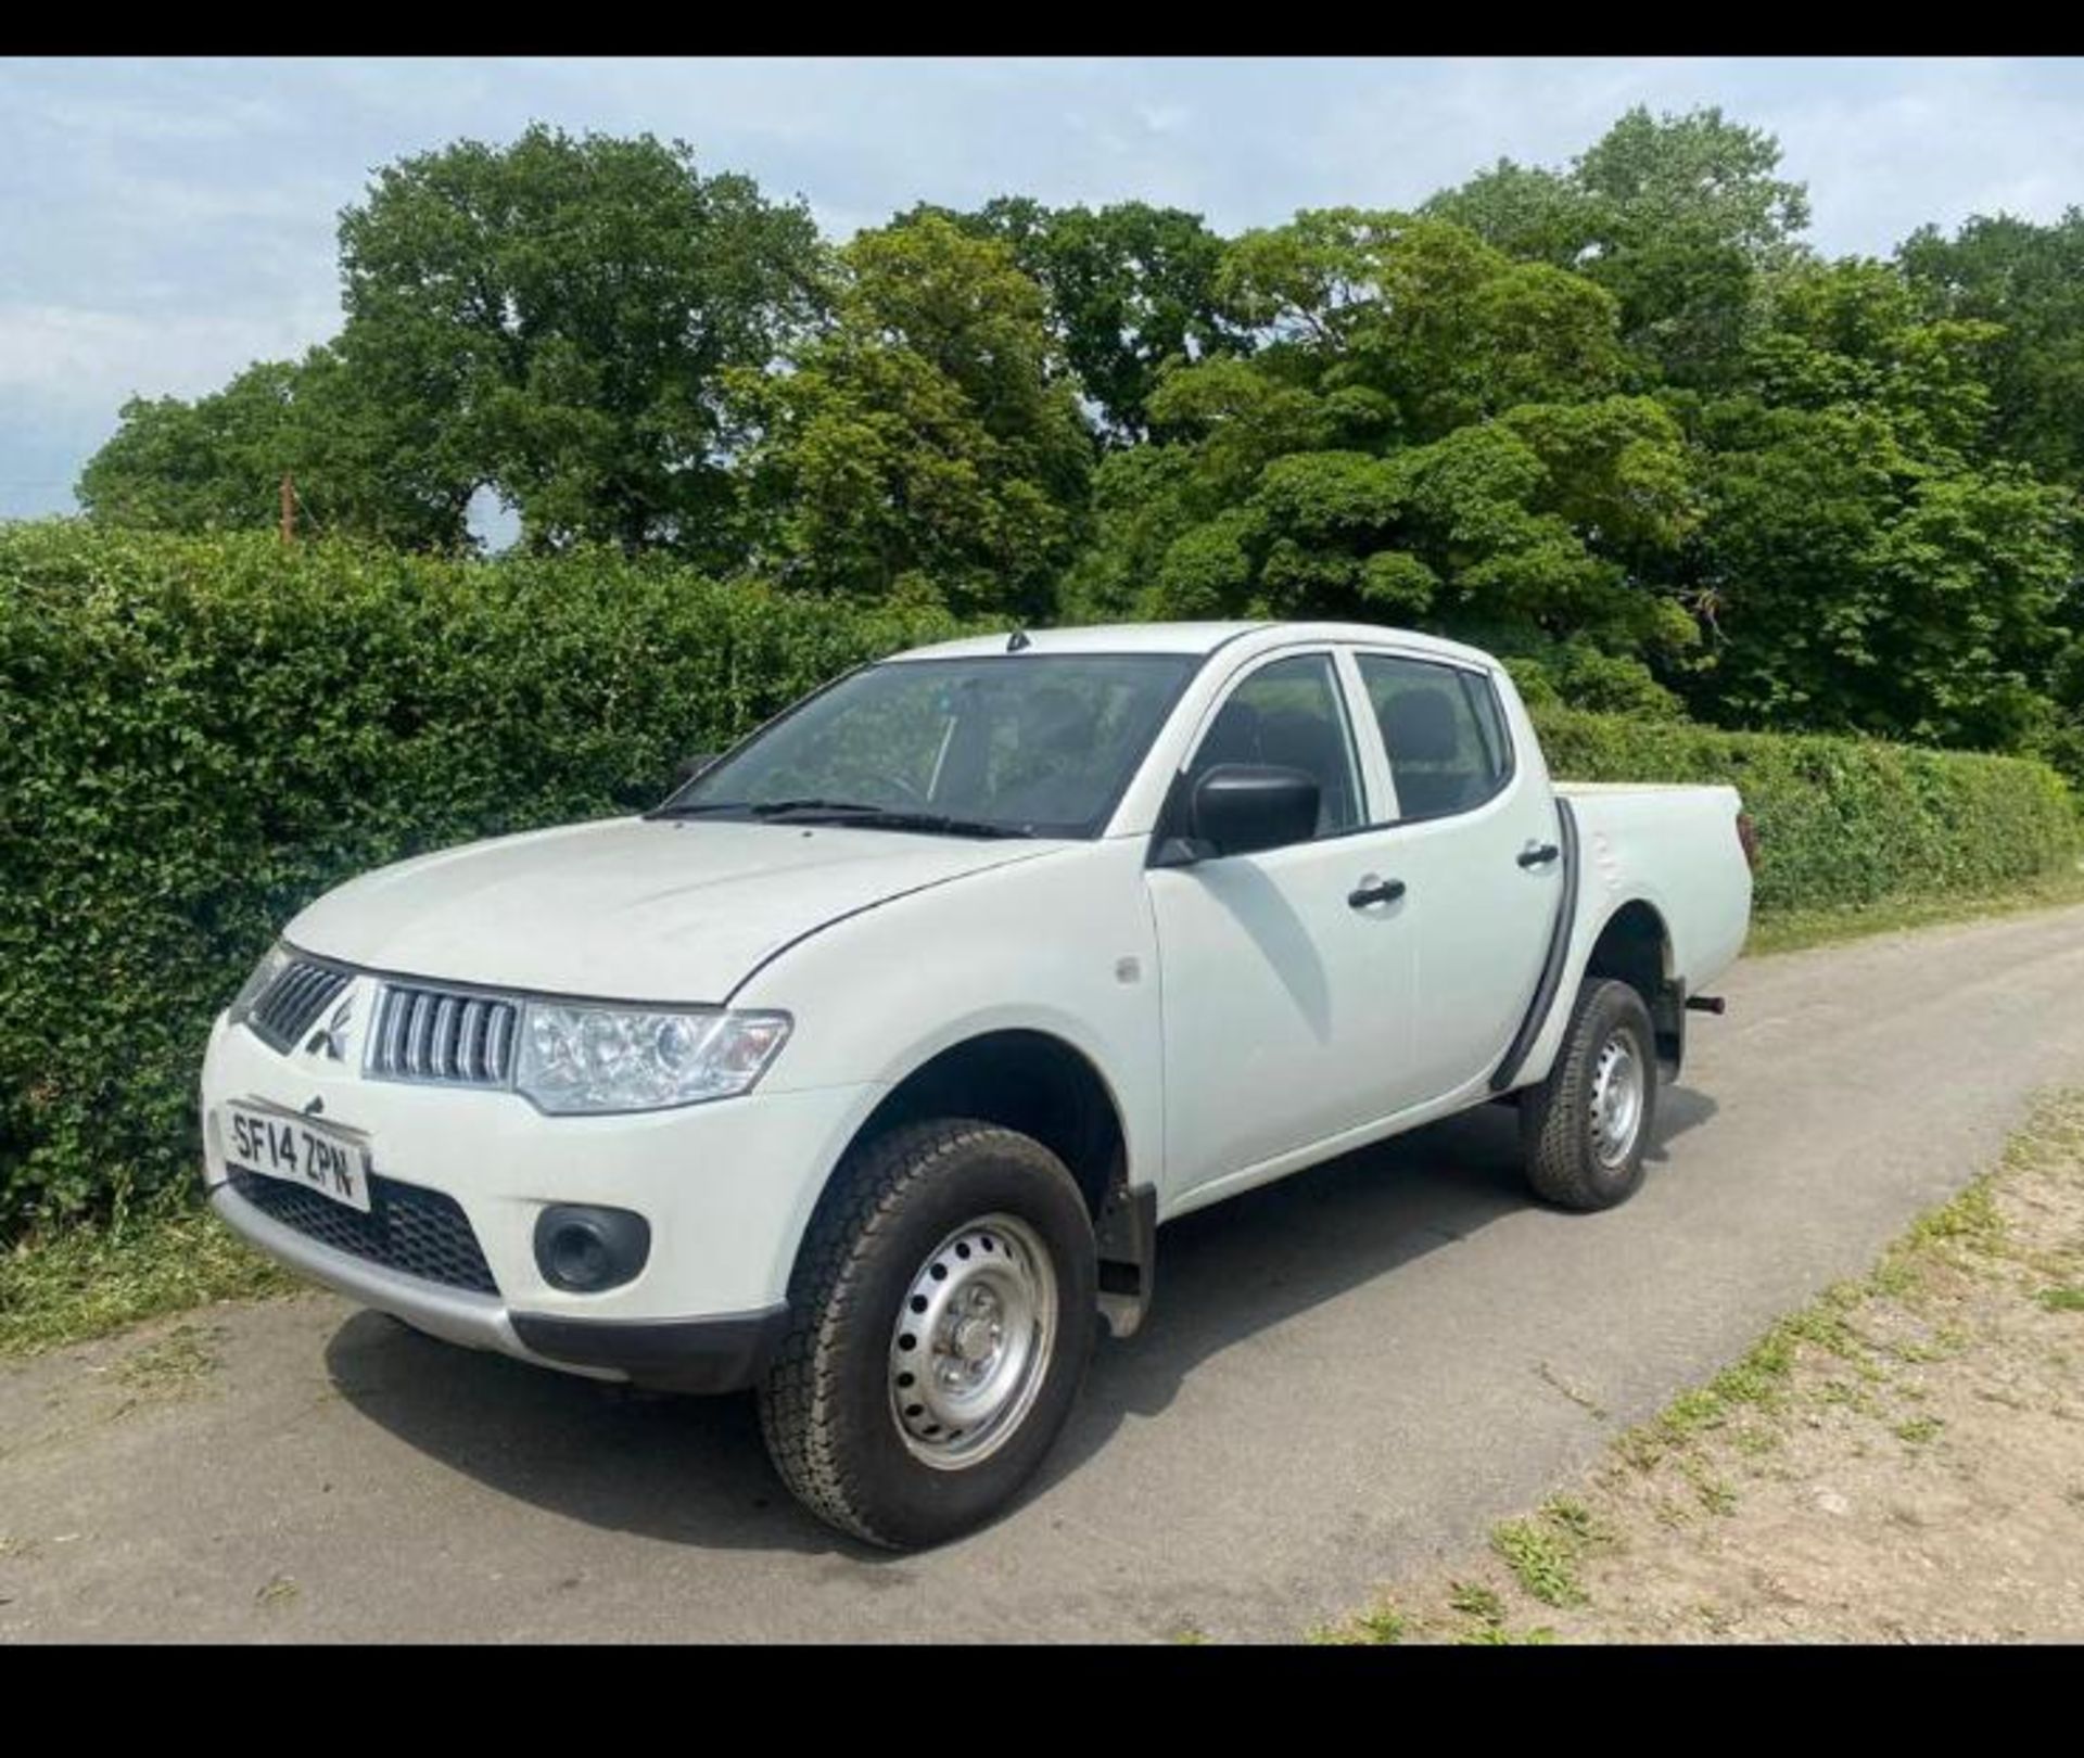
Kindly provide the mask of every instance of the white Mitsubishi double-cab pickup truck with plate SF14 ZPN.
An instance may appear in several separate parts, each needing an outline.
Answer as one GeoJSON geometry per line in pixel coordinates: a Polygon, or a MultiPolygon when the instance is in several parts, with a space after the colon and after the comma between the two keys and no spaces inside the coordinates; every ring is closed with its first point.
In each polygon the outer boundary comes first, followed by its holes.
{"type": "Polygon", "coordinates": [[[1553,787],[1496,660],[1392,629],[950,642],[692,767],[296,916],[204,1179],[421,1331],[756,1387],[882,1546],[1007,1504],[1177,1214],[1494,1100],[1621,1202],[1751,912],[1734,789],[1553,787]]]}

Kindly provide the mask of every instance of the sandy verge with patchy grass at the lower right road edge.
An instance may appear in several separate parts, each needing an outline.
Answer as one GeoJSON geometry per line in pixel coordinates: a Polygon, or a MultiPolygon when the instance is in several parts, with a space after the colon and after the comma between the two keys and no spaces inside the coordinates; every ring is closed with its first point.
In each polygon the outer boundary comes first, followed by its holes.
{"type": "Polygon", "coordinates": [[[2071,1089],[1567,1496],[1311,1639],[2074,1639],[2080,1312],[2071,1089]]]}

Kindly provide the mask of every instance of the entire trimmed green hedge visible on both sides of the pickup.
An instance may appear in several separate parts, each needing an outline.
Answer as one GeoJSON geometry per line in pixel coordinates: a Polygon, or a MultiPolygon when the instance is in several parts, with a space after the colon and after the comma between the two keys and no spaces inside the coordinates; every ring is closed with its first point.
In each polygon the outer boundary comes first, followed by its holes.
{"type": "MultiPolygon", "coordinates": [[[[854,660],[950,633],[584,554],[0,525],[0,1239],[192,1175],[208,1021],[363,869],[629,810],[854,660]]],[[[1761,908],[2059,864],[2038,764],[1544,714],[1561,775],[1732,779],[1761,908]]]]}

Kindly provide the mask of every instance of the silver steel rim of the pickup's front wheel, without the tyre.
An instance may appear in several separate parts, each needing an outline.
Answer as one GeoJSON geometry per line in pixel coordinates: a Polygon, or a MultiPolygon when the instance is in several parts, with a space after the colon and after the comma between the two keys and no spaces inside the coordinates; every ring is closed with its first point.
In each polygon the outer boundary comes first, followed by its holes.
{"type": "Polygon", "coordinates": [[[936,1471],[965,1471],[1013,1439],[1057,1348],[1057,1275],[1013,1214],[965,1221],[919,1264],[890,1331],[890,1416],[936,1471]]]}

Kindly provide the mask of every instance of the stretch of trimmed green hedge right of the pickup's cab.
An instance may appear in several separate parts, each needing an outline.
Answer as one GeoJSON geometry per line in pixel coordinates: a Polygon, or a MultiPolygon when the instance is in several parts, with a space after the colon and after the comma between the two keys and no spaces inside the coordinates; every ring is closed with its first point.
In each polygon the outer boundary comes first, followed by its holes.
{"type": "Polygon", "coordinates": [[[2030,758],[1559,710],[1536,725],[1557,777],[1734,783],[1759,827],[1761,914],[2001,891],[2078,854],[2076,804],[2030,758]]]}

